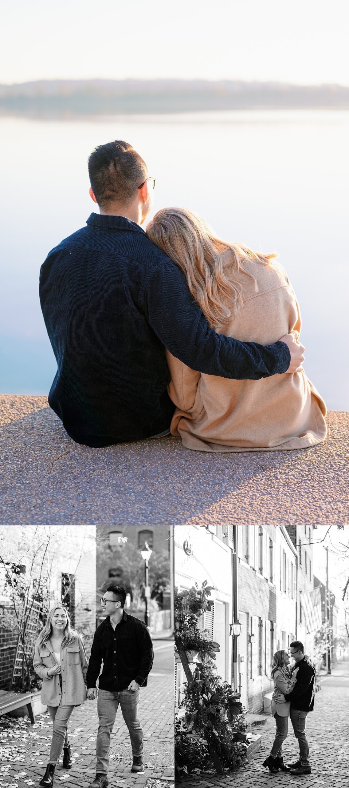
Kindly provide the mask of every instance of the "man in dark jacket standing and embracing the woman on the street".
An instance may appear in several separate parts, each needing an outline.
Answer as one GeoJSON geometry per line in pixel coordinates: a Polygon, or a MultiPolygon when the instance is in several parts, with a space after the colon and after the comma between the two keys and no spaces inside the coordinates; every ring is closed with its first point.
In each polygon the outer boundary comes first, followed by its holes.
{"type": "Polygon", "coordinates": [[[304,646],[300,641],[290,643],[288,655],[295,660],[295,667],[299,669],[296,686],[285,695],[285,700],[291,701],[289,716],[299,744],[299,760],[288,766],[291,767],[291,775],[310,775],[309,743],[305,729],[308,713],[314,709],[315,668],[304,654],[304,646]]]}

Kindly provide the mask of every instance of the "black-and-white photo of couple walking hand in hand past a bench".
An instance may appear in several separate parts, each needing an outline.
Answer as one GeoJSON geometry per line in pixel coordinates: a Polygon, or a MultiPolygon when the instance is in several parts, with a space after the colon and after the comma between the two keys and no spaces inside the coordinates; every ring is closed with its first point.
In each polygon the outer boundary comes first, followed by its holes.
{"type": "Polygon", "coordinates": [[[0,786],[169,788],[171,527],[0,529],[0,786]]]}

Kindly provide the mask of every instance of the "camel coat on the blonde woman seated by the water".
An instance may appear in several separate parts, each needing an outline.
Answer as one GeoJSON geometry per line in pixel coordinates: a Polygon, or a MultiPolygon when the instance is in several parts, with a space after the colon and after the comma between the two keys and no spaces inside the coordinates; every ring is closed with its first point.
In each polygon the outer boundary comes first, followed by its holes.
{"type": "MultiPolygon", "coordinates": [[[[223,253],[229,277],[232,252],[223,253]]],[[[221,333],[242,342],[272,344],[300,332],[299,306],[285,269],[249,261],[255,277],[241,273],[243,306],[221,333]]],[[[167,351],[176,405],[171,434],[199,452],[255,452],[307,448],[325,440],[326,406],[304,370],[259,381],[236,381],[189,369],[167,351]]]]}

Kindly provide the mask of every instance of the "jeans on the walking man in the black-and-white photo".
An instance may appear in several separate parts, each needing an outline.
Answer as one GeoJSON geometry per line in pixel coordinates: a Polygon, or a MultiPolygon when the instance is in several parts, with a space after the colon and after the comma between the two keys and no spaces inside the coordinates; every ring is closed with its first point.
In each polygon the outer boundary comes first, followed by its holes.
{"type": "Polygon", "coordinates": [[[98,689],[97,712],[99,726],[97,733],[97,773],[108,775],[109,749],[116,712],[121,707],[123,719],[128,727],[132,755],[139,756],[143,752],[143,730],[138,719],[139,689],[122,689],[121,692],[108,692],[98,689]]]}

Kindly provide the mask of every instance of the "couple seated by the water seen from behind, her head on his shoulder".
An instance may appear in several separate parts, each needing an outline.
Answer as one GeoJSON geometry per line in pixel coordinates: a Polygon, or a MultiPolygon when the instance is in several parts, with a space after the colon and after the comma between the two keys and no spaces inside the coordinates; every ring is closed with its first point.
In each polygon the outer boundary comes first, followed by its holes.
{"type": "MultiPolygon", "coordinates": [[[[275,255],[222,240],[185,208],[159,210],[145,232],[155,178],[123,140],[90,154],[89,175],[99,213],[40,272],[57,360],[49,403],[68,435],[103,447],[171,432],[202,452],[325,440],[297,299],[275,255]]],[[[204,161],[197,201],[214,190],[204,161]]]]}

